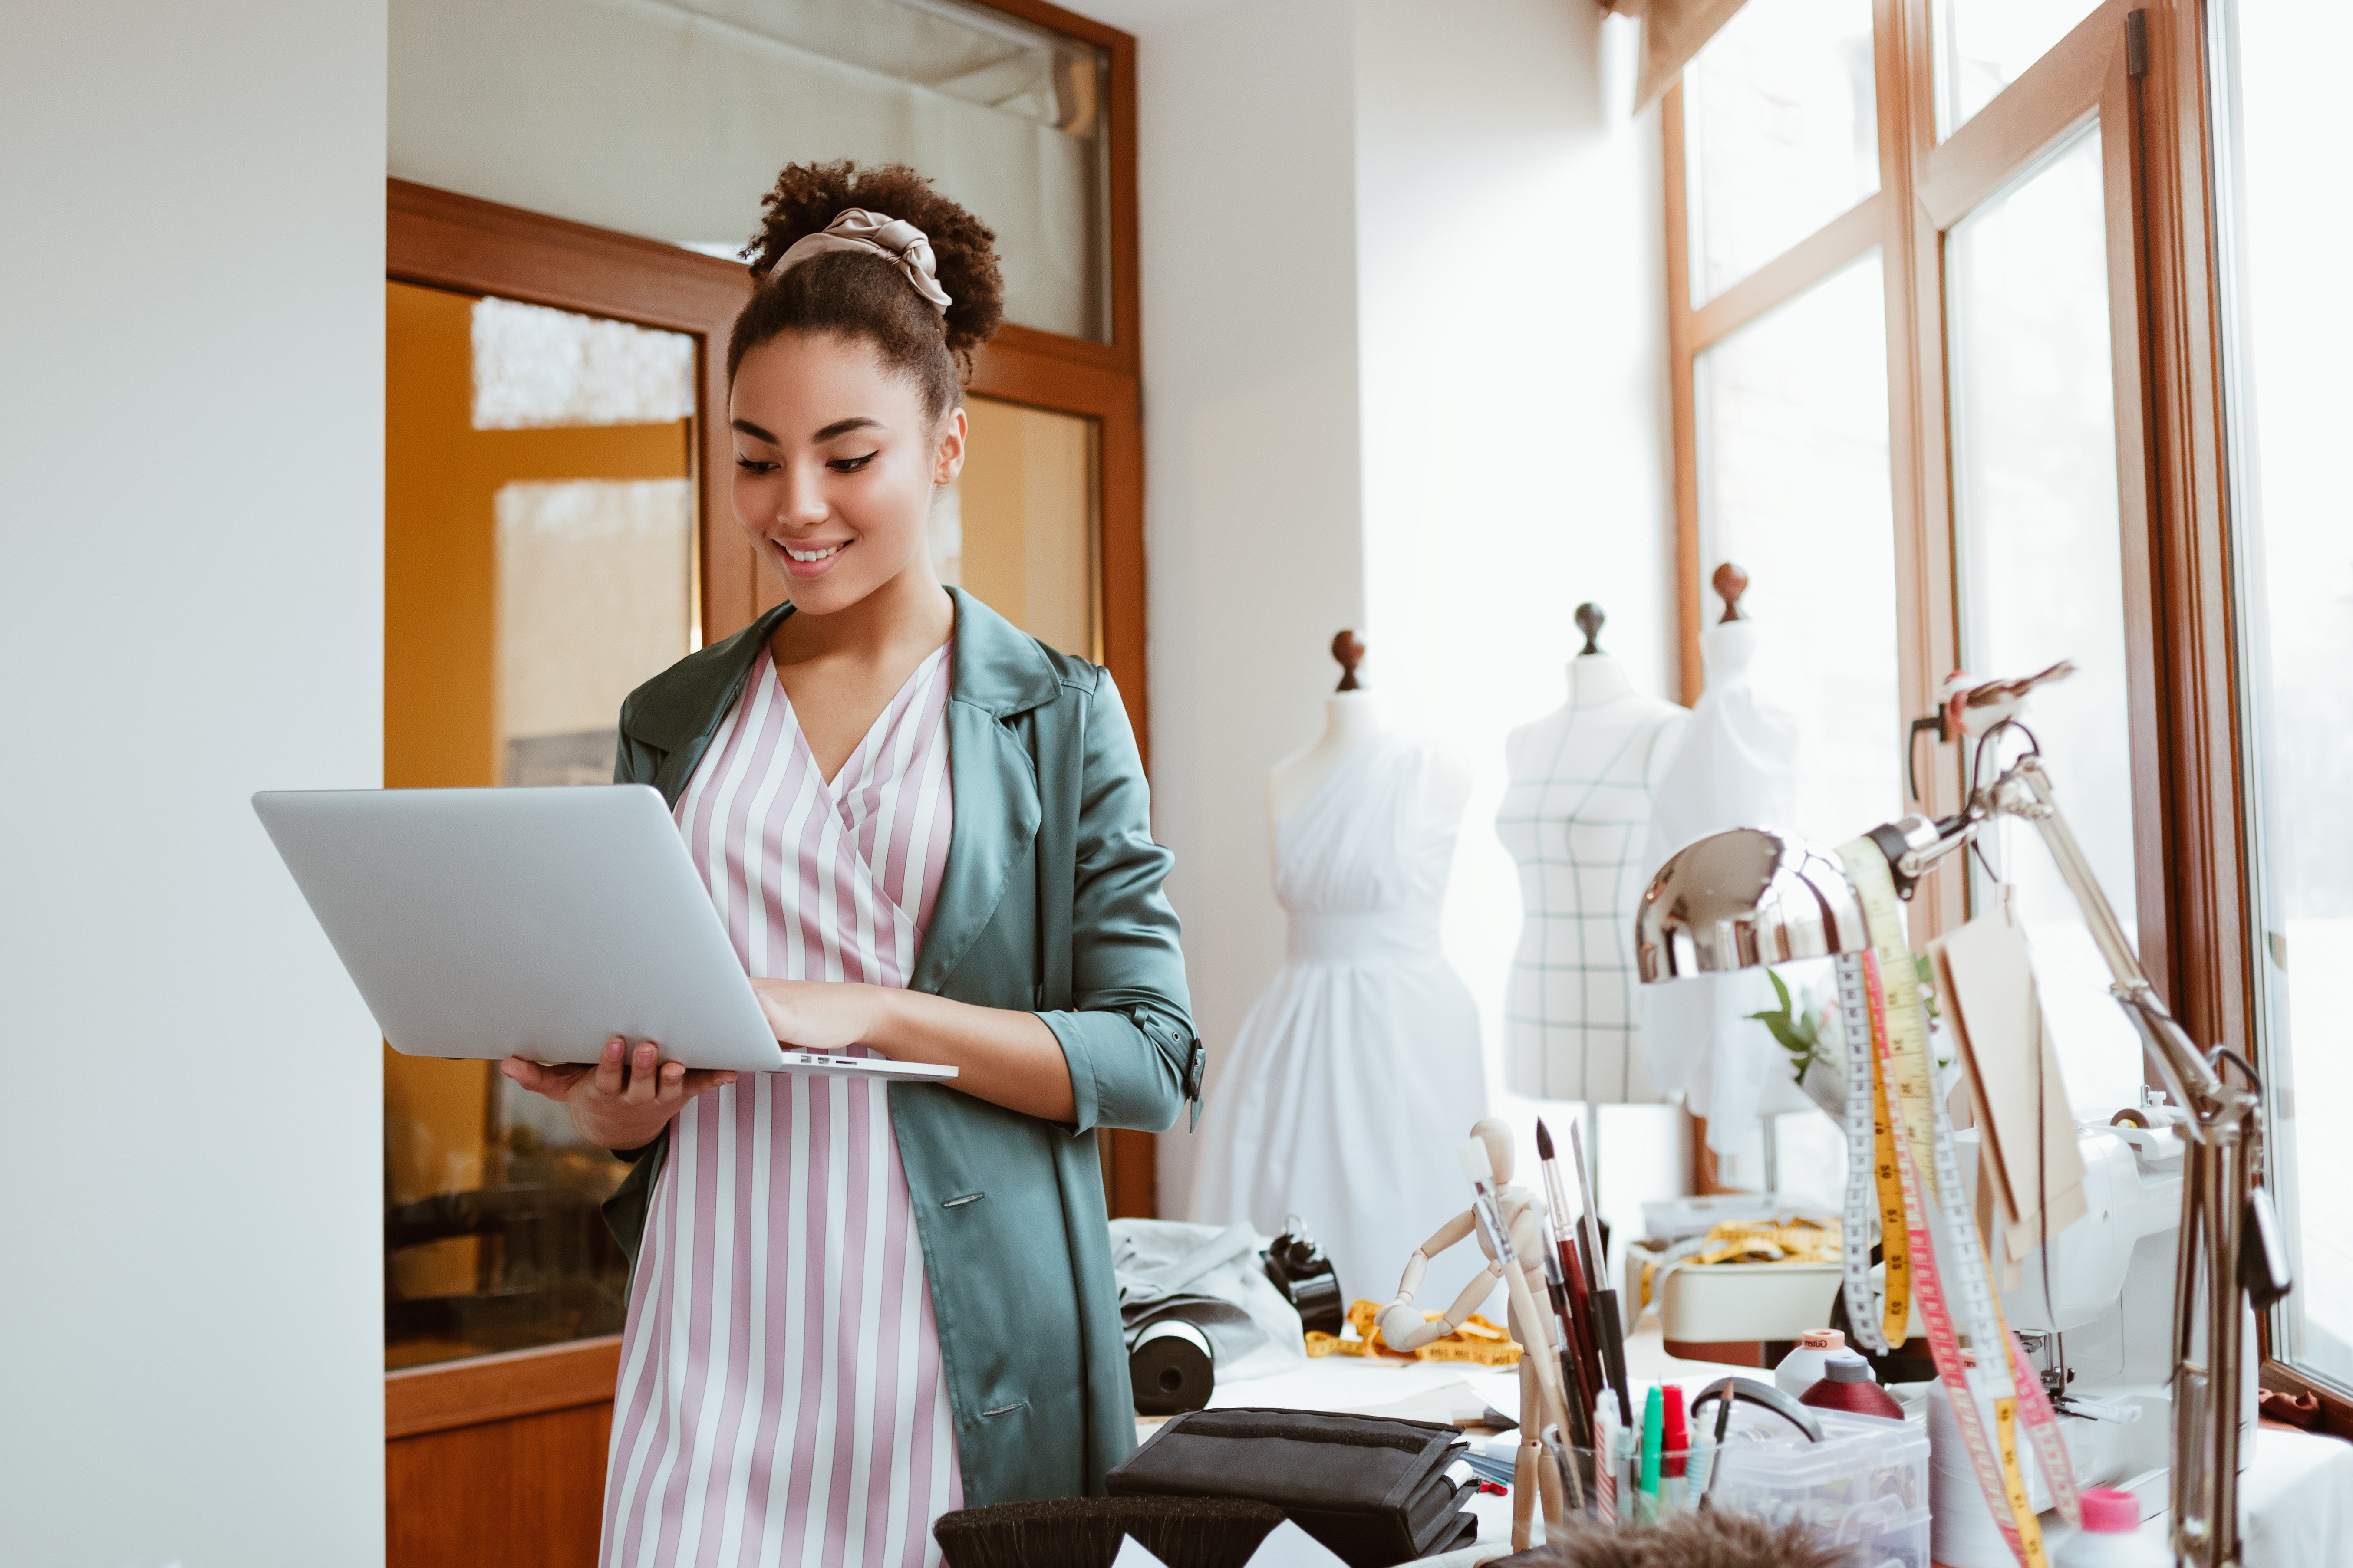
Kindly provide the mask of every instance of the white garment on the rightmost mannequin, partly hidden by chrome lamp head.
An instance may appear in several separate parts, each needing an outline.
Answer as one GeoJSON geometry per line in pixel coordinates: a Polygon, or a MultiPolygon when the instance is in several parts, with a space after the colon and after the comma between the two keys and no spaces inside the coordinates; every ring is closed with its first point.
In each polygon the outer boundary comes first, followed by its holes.
{"type": "MultiPolygon", "coordinates": [[[[1699,635],[1708,689],[1659,780],[1645,877],[1692,839],[1727,827],[1788,827],[1798,813],[1798,719],[1758,691],[1755,654],[1755,621],[1725,621],[1699,635]]],[[[1692,1114],[1708,1119],[1708,1147],[1718,1154],[1746,1145],[1760,1110],[1807,1105],[1788,1084],[1788,1058],[1748,1018],[1769,1006],[1774,990],[1762,969],[1642,987],[1652,1081],[1682,1091],[1692,1114]],[[1788,1091],[1774,1093],[1784,1084],[1788,1091]]]]}

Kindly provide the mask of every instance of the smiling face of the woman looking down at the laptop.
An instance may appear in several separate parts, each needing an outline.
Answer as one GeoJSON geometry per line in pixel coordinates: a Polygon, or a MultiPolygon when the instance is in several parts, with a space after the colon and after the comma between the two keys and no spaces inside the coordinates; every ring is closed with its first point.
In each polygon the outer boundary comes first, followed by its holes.
{"type": "Polygon", "coordinates": [[[965,411],[859,339],[786,334],[744,355],[729,395],[734,512],[793,609],[847,609],[908,567],[929,576],[932,494],[965,465],[965,411]]]}

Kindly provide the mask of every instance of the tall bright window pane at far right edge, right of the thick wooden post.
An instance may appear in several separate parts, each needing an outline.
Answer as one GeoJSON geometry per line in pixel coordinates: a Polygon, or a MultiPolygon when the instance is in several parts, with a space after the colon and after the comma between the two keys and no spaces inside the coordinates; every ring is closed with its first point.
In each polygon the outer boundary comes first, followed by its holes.
{"type": "Polygon", "coordinates": [[[2353,1093],[2353,1018],[2334,994],[2353,940],[2353,517],[2344,433],[2353,393],[2334,299],[2353,219],[2313,181],[2339,125],[2341,7],[2219,14],[2224,317],[2231,348],[2231,508],[2238,543],[2247,825],[2257,846],[2249,966],[2261,1006],[2271,1180],[2297,1291],[2273,1354],[2353,1389],[2353,1157],[2334,1112],[2353,1093]],[[2233,26],[2235,24],[2235,26],[2233,26]]]}

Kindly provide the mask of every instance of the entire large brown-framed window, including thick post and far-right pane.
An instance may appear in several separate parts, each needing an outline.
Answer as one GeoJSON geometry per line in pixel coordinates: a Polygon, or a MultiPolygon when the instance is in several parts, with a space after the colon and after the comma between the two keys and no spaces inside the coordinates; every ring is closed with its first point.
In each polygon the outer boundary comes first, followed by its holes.
{"type": "MultiPolygon", "coordinates": [[[[1751,0],[1666,96],[1685,693],[1706,569],[1737,555],[1762,632],[1812,663],[1788,691],[1807,832],[1835,839],[1960,806],[1969,757],[1932,717],[1948,670],[2073,661],[2035,741],[2160,997],[2261,1072],[2299,1279],[2266,1375],[2353,1434],[2353,1161],[2329,1135],[2353,1091],[2329,985],[2353,936],[2353,395],[2322,308],[2353,233],[2315,179],[2353,21],[1880,0],[1871,92],[1840,96],[1852,47],[1845,5],[1751,0]],[[1875,120],[1875,181],[1833,179],[1845,106],[1875,120]],[[1741,181],[1769,209],[1732,200],[1741,181]],[[1852,386],[1871,350],[1835,306],[1857,280],[1887,322],[1885,524],[1852,386]]],[[[2007,884],[2068,1100],[2106,1119],[2146,1081],[2108,973],[2035,835],[1984,849],[1922,884],[1913,936],[2007,884]]]]}

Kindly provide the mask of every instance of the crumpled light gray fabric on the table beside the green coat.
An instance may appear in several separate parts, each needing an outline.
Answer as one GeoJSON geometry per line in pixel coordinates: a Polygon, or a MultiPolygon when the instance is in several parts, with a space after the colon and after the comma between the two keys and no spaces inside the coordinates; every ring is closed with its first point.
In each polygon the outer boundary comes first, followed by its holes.
{"type": "Polygon", "coordinates": [[[1217,1378],[1271,1378],[1306,1366],[1306,1331],[1259,1251],[1249,1225],[1113,1220],[1111,1272],[1120,1284],[1120,1326],[1129,1338],[1165,1316],[1209,1335],[1217,1378]]]}

